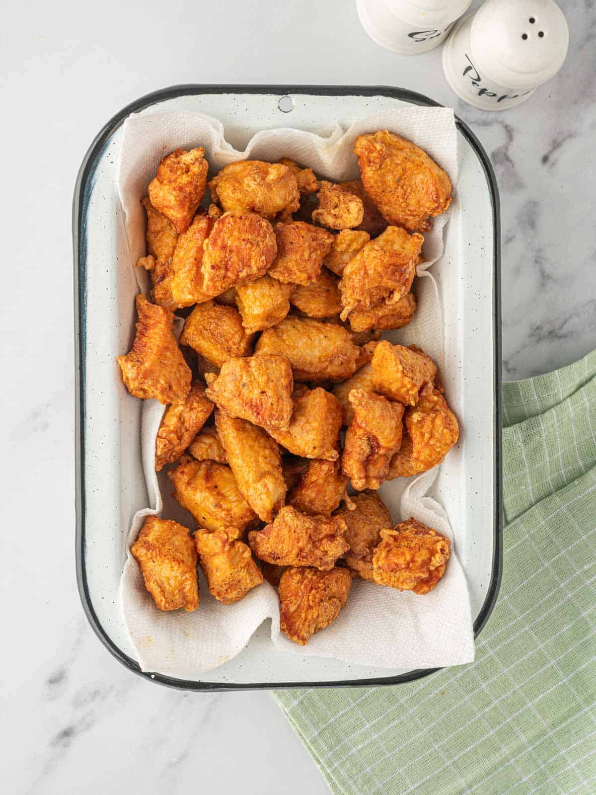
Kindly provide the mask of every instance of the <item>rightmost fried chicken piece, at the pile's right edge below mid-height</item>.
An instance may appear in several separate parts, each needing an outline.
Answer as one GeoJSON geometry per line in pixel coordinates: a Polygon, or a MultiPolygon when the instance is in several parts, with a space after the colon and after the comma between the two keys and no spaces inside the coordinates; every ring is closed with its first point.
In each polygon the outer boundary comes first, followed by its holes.
{"type": "Polygon", "coordinates": [[[404,416],[401,448],[389,465],[388,479],[408,478],[440,463],[459,439],[455,414],[439,390],[424,395],[404,416]]]}

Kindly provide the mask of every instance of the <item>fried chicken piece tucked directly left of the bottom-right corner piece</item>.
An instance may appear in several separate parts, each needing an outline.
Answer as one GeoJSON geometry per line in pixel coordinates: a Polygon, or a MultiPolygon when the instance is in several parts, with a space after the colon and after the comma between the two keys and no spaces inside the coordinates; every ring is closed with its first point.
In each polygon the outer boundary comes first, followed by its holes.
{"type": "Polygon", "coordinates": [[[350,549],[343,556],[346,564],[362,577],[373,580],[373,550],[381,541],[381,530],[391,527],[391,514],[376,491],[361,491],[352,500],[355,510],[342,506],[335,511],[346,522],[346,541],[350,549]]]}

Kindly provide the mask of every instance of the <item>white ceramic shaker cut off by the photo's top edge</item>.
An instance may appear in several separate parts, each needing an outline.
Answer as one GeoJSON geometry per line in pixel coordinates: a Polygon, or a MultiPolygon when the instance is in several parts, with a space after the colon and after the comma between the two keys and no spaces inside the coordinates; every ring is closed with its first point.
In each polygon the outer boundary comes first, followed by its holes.
{"type": "Polygon", "coordinates": [[[356,0],[362,27],[377,45],[418,55],[449,35],[472,0],[356,0]]]}

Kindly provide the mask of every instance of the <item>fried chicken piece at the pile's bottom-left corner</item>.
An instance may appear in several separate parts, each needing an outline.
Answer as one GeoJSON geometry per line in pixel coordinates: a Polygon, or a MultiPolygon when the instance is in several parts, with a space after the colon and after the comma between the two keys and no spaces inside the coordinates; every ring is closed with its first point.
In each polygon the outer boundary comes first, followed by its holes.
{"type": "Polygon", "coordinates": [[[188,527],[148,516],[130,552],[137,559],[145,588],[158,610],[196,610],[196,551],[188,527]]]}

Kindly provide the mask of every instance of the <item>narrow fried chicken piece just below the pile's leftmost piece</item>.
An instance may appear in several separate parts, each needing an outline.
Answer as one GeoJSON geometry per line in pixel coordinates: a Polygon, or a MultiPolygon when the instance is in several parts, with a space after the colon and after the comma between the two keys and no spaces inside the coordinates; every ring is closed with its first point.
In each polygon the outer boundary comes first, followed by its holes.
{"type": "Polygon", "coordinates": [[[188,397],[172,403],[164,411],[155,440],[155,469],[180,458],[213,411],[213,403],[205,397],[205,387],[195,381],[188,397]]]}

